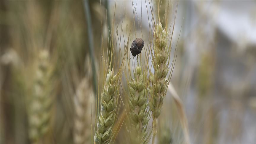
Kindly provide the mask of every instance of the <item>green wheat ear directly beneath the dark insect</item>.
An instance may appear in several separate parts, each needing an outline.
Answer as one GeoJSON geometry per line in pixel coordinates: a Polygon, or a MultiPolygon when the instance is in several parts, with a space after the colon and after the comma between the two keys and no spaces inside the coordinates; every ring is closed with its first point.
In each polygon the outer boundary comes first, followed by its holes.
{"type": "Polygon", "coordinates": [[[132,140],[132,143],[146,142],[146,126],[149,121],[149,112],[147,111],[147,89],[144,76],[145,73],[142,73],[140,65],[137,65],[134,79],[129,82],[129,119],[132,125],[130,131],[132,134],[135,134],[135,139],[132,140]]]}

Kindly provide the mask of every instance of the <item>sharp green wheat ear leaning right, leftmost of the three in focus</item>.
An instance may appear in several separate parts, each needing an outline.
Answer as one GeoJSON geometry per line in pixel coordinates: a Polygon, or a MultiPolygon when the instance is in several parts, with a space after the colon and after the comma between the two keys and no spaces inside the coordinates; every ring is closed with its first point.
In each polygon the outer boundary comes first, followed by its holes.
{"type": "Polygon", "coordinates": [[[96,144],[108,143],[111,139],[118,101],[117,77],[117,75],[113,76],[113,70],[110,70],[103,86],[101,111],[94,135],[94,143],[96,144]]]}

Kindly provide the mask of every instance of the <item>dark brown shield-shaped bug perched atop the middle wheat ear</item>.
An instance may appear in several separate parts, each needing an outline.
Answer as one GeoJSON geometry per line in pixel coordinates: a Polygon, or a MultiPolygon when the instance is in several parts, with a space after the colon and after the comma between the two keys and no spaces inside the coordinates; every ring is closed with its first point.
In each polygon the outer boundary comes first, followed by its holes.
{"type": "Polygon", "coordinates": [[[136,38],[133,42],[132,42],[132,46],[130,48],[132,56],[139,56],[138,54],[140,54],[140,52],[143,50],[142,48],[144,47],[144,40],[141,38],[136,38]]]}

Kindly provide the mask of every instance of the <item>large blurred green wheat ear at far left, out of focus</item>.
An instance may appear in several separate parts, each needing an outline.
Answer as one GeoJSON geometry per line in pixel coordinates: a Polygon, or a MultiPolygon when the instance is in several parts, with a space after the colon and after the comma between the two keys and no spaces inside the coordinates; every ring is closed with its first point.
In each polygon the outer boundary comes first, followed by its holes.
{"type": "Polygon", "coordinates": [[[40,143],[42,137],[49,130],[51,115],[51,83],[49,68],[49,53],[47,50],[39,52],[39,61],[36,65],[33,95],[28,109],[29,137],[32,143],[40,143]]]}

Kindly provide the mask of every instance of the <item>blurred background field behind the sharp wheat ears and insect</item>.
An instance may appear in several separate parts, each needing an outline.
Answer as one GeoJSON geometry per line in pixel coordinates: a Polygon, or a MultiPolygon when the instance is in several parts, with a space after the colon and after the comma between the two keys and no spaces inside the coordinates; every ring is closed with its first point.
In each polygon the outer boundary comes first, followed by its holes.
{"type": "MultiPolygon", "coordinates": [[[[191,143],[256,144],[256,1],[160,3],[160,17],[168,19],[163,26],[175,20],[171,83],[183,101],[191,143]]],[[[90,143],[100,59],[110,41],[117,62],[136,37],[150,47],[155,5],[0,1],[0,143],[90,143]]],[[[174,111],[167,93],[161,115],[170,130],[166,137],[184,143],[174,111]]]]}

